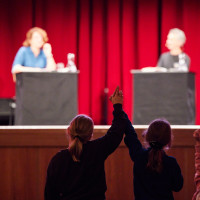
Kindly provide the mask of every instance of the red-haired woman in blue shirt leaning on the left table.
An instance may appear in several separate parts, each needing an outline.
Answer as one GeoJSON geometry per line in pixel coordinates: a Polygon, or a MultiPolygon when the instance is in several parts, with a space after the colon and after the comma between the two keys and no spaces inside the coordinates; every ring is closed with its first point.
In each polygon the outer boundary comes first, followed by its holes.
{"type": "Polygon", "coordinates": [[[27,32],[23,47],[18,50],[13,62],[14,81],[16,73],[38,72],[42,69],[53,71],[56,69],[52,48],[47,41],[47,33],[41,28],[34,27],[27,32]]]}

